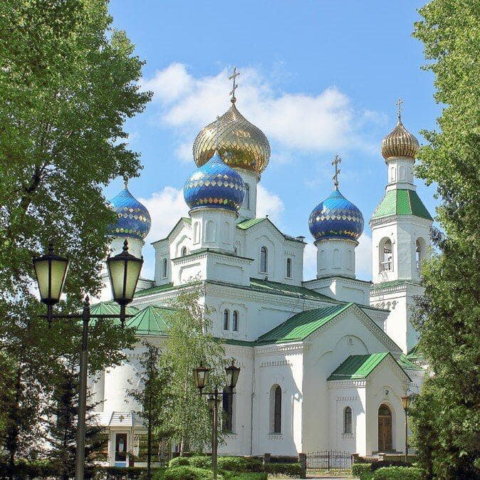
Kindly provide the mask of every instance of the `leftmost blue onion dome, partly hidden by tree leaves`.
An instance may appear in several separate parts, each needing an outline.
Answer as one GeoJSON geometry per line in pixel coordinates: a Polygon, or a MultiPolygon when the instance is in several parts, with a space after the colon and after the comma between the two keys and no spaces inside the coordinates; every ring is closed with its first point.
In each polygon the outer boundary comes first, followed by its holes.
{"type": "Polygon", "coordinates": [[[110,200],[110,207],[117,214],[117,222],[108,226],[108,234],[145,239],[152,220],[145,205],[129,192],[126,181],[123,189],[110,200]]]}

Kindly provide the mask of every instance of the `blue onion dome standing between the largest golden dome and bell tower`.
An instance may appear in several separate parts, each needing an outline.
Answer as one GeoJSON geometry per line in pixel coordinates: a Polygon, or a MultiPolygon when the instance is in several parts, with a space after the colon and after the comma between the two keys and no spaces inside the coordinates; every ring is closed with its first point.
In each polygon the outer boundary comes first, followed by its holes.
{"type": "Polygon", "coordinates": [[[338,190],[320,202],[308,219],[315,240],[346,239],[358,241],[363,231],[363,215],[338,190]]]}

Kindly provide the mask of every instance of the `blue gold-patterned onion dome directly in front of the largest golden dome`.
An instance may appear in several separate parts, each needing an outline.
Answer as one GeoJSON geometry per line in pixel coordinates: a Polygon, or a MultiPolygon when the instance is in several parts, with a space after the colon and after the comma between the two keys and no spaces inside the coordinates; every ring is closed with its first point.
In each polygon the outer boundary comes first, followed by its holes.
{"type": "Polygon", "coordinates": [[[191,209],[222,208],[238,212],[244,202],[245,185],[241,175],[215,152],[187,179],[183,196],[191,209]]]}

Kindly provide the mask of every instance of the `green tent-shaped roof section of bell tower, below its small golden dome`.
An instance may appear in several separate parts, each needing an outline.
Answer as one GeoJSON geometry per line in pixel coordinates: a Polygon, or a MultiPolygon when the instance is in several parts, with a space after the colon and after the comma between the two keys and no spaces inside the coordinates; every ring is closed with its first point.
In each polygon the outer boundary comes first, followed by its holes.
{"type": "Polygon", "coordinates": [[[417,192],[410,189],[395,189],[385,193],[372,219],[390,215],[415,215],[422,219],[433,220],[417,192]]]}

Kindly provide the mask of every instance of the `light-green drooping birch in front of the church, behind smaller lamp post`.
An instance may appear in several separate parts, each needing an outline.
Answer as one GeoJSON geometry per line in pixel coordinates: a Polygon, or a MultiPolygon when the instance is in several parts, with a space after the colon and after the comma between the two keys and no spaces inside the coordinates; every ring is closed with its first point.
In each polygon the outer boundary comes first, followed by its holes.
{"type": "Polygon", "coordinates": [[[212,420],[207,402],[194,385],[193,370],[203,365],[212,368],[206,390],[212,385],[223,386],[225,375],[224,348],[209,333],[212,328],[212,308],[202,303],[199,283],[182,291],[172,302],[169,328],[162,362],[172,370],[170,426],[172,441],[179,445],[180,454],[189,449],[200,451],[212,441],[212,420]]]}

